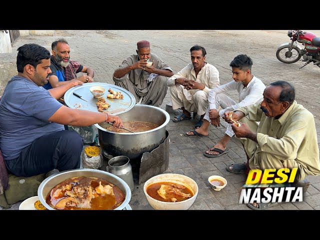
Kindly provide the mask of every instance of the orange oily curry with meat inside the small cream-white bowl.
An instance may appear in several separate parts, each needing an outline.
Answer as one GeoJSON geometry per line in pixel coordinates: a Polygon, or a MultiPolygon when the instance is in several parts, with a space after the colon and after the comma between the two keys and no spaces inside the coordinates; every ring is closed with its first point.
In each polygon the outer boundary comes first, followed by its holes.
{"type": "Polygon", "coordinates": [[[150,184],[146,193],[156,200],[165,202],[183,201],[194,195],[188,187],[166,181],[150,184]]]}

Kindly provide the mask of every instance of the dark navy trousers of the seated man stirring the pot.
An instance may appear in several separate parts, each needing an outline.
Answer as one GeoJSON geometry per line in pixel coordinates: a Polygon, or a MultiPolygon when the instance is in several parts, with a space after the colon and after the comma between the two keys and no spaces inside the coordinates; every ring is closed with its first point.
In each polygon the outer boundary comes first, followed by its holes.
{"type": "Polygon", "coordinates": [[[52,169],[76,169],[80,167],[82,147],[82,137],[77,132],[61,130],[35,139],[5,165],[12,174],[26,177],[52,169]]]}

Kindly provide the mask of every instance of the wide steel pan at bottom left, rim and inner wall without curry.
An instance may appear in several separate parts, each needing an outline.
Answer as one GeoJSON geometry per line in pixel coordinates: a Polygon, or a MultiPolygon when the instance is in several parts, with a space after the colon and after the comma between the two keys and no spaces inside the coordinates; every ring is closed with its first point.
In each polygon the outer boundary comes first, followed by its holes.
{"type": "Polygon", "coordinates": [[[130,207],[128,208],[125,208],[125,207],[127,207],[131,199],[131,190],[128,184],[124,180],[107,171],[102,171],[98,169],[88,169],[88,168],[65,170],[45,178],[38,187],[38,197],[40,202],[43,204],[43,206],[45,206],[49,210],[55,210],[45,202],[45,198],[47,194],[52,189],[52,187],[54,187],[61,181],[74,176],[100,177],[117,185],[123,191],[125,198],[124,198],[124,201],[118,207],[114,208],[114,210],[130,209],[130,207]]]}

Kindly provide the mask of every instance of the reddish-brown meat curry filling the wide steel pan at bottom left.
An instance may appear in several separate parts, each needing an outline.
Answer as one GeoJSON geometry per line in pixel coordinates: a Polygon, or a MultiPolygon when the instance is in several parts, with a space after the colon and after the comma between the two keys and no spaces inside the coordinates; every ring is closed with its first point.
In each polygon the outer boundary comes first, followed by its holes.
{"type": "Polygon", "coordinates": [[[57,210],[111,210],[124,198],[123,191],[107,180],[76,176],[54,186],[45,202],[57,210]]]}

